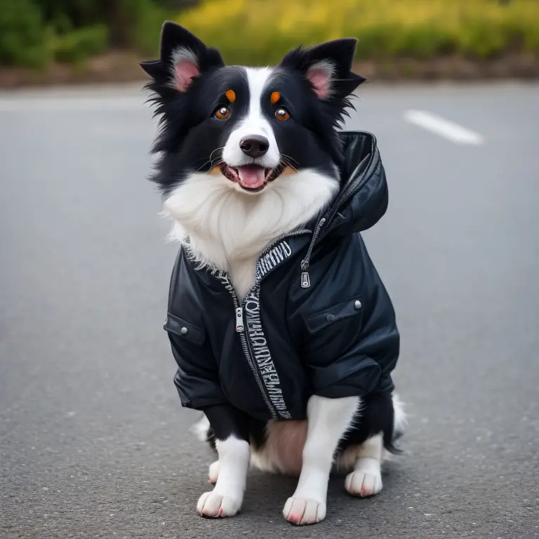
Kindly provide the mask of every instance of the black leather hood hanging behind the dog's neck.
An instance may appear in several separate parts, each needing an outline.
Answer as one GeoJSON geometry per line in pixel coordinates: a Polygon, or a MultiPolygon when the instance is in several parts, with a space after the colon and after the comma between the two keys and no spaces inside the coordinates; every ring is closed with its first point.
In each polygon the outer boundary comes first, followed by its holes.
{"type": "Polygon", "coordinates": [[[371,133],[343,131],[341,187],[326,211],[321,237],[354,234],[378,222],[387,210],[387,181],[371,133]]]}

